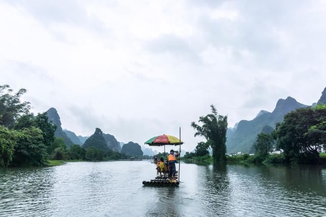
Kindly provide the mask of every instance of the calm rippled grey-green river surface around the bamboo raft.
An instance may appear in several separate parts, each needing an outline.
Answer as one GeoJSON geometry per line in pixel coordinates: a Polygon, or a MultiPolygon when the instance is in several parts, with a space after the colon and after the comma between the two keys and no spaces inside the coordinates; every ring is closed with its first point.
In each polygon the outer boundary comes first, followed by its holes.
{"type": "Polygon", "coordinates": [[[144,187],[149,161],[0,170],[0,216],[326,216],[326,168],[181,164],[179,187],[144,187]]]}

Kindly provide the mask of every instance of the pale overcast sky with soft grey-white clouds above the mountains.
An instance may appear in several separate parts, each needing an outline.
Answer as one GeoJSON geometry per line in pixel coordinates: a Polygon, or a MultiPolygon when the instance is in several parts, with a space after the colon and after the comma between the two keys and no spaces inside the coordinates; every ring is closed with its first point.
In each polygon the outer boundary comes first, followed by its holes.
{"type": "Polygon", "coordinates": [[[181,126],[190,151],[210,104],[233,126],[326,86],[326,1],[0,0],[0,17],[0,84],[77,135],[181,126]]]}

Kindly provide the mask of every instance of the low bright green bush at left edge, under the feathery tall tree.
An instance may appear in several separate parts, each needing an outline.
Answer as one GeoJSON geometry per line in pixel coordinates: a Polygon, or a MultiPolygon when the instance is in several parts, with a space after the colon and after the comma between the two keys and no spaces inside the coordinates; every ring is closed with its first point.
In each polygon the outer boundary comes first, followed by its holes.
{"type": "Polygon", "coordinates": [[[8,167],[14,155],[17,132],[0,125],[0,167],[8,167]]]}

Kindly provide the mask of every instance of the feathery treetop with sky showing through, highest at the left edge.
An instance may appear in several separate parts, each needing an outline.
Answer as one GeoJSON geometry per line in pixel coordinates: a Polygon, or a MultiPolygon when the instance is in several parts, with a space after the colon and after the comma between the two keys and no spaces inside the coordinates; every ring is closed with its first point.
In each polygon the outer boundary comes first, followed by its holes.
{"type": "Polygon", "coordinates": [[[21,102],[20,97],[26,92],[20,89],[14,93],[9,85],[0,86],[0,124],[9,129],[15,123],[15,120],[23,115],[29,114],[30,102],[21,102]]]}

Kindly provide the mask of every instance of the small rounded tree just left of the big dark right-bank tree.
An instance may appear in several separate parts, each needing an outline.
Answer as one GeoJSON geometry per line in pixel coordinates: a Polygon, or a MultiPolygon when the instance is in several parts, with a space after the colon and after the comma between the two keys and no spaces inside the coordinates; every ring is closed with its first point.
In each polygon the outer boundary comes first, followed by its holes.
{"type": "Polygon", "coordinates": [[[273,148],[273,144],[274,139],[271,134],[261,132],[257,135],[257,140],[253,145],[255,153],[260,156],[267,156],[273,148]]]}

